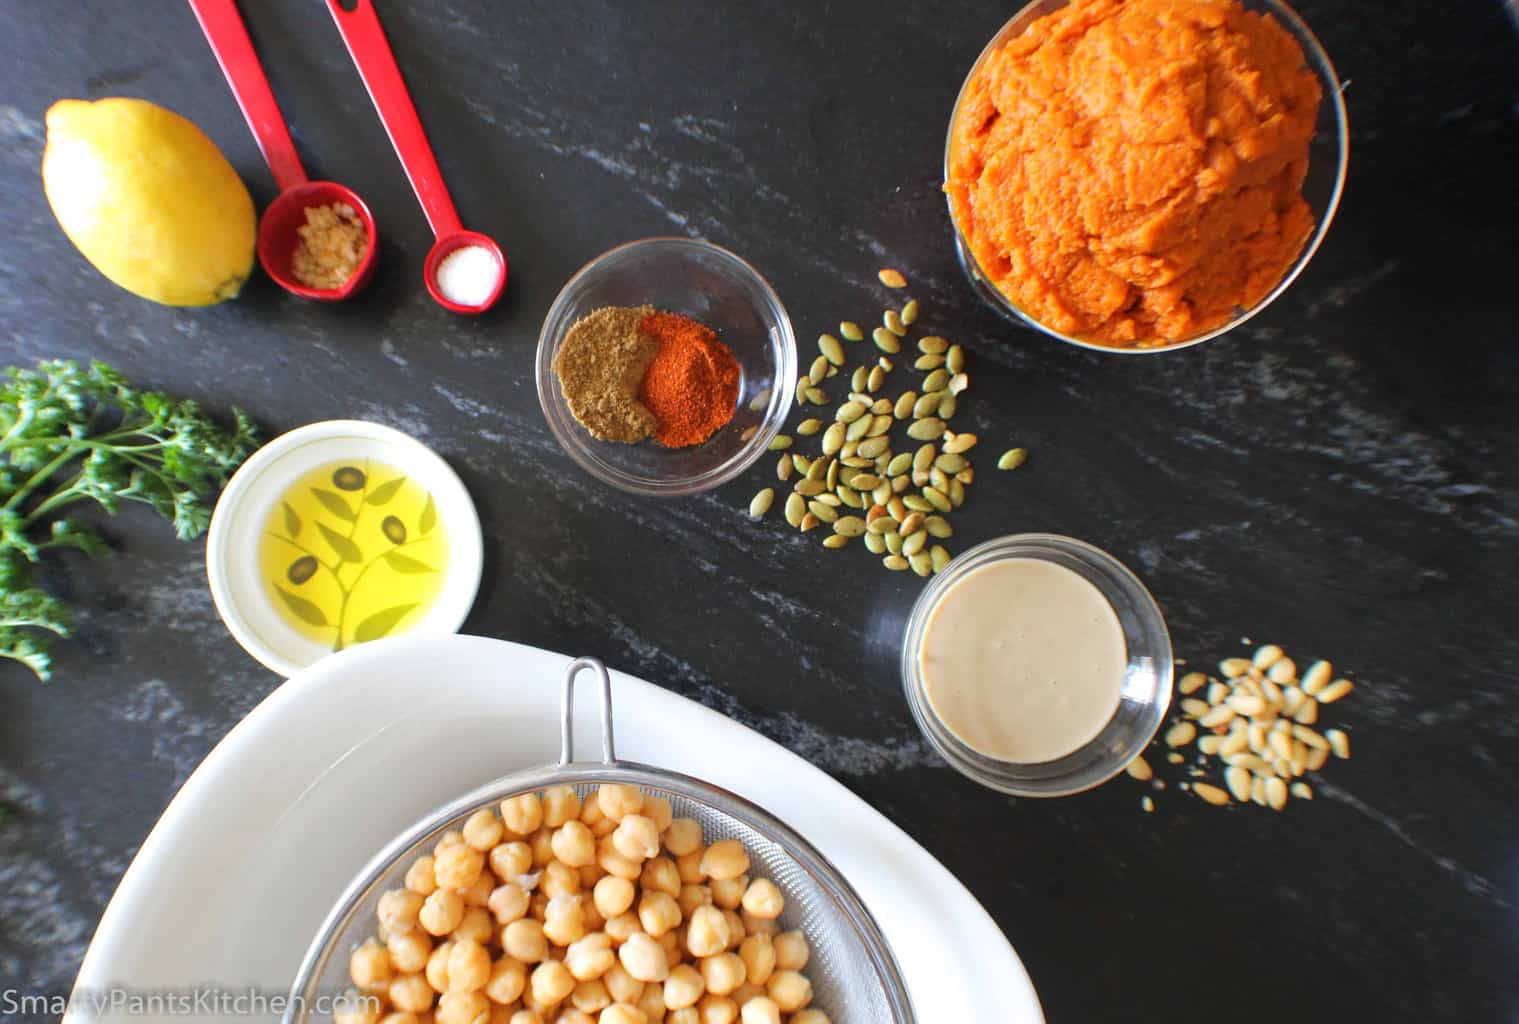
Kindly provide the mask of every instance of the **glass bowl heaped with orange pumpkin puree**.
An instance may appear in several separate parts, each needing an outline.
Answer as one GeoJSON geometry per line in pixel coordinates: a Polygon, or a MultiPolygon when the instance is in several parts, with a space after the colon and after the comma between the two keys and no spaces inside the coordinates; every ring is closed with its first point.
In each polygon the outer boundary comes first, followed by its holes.
{"type": "Polygon", "coordinates": [[[1103,352],[1200,345],[1302,273],[1340,205],[1340,79],[1279,0],[1034,0],[955,99],[960,266],[1103,352]]]}

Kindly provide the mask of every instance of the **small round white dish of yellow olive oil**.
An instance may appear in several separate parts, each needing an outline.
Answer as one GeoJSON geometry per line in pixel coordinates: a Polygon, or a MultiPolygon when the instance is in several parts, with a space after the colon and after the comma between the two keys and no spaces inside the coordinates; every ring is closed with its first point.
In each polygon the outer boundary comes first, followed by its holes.
{"type": "Polygon", "coordinates": [[[371,640],[457,632],[480,565],[480,520],[459,476],[399,430],[354,419],[254,453],[207,541],[222,621],[284,676],[371,640]]]}

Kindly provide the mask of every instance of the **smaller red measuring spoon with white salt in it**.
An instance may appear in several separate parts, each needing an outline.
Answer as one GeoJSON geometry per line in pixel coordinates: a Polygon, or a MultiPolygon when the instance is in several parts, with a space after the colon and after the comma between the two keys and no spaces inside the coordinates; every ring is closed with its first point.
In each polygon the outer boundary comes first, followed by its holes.
{"type": "Polygon", "coordinates": [[[427,263],[422,266],[422,280],[427,283],[428,293],[445,310],[483,313],[501,298],[501,289],[506,287],[506,255],[501,252],[501,246],[478,231],[465,231],[459,220],[459,211],[454,210],[454,201],[448,196],[444,173],[437,169],[433,147],[427,141],[422,120],[416,115],[412,94],[406,88],[406,79],[401,77],[401,68],[395,62],[395,53],[392,53],[390,41],[380,26],[380,15],[375,14],[374,3],[357,0],[352,11],[345,11],[339,0],[327,0],[327,6],[333,12],[333,21],[337,23],[337,32],[343,36],[348,55],[358,67],[358,77],[369,90],[369,99],[374,100],[375,112],[380,114],[390,144],[395,146],[395,155],[401,158],[406,176],[412,182],[412,191],[422,204],[422,213],[427,214],[427,223],[433,229],[436,240],[427,254],[427,263]],[[456,302],[439,287],[437,269],[456,251],[471,246],[485,249],[491,257],[495,266],[495,283],[483,301],[475,304],[456,302]]]}

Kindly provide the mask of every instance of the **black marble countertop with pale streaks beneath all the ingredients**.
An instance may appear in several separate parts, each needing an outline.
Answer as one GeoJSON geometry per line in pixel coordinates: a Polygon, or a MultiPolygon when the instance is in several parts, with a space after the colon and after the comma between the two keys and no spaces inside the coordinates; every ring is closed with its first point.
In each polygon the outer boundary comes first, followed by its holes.
{"type": "MultiPolygon", "coordinates": [[[[166,103],[260,205],[272,182],[185,5],[65,6],[0,11],[0,363],[102,357],[243,404],[269,435],[357,416],[422,438],[485,524],[468,632],[600,655],[805,755],[969,886],[1054,1021],[1519,1019],[1519,44],[1502,3],[1300,6],[1347,82],[1338,220],[1267,313],[1150,359],[1009,325],[954,261],[945,122],[1007,3],[381,0],[465,222],[509,252],[509,293],[478,319],[424,292],[427,225],[314,0],[245,6],[308,169],[381,222],[369,292],[317,305],[260,275],[235,302],[170,310],[99,277],[38,179],[55,99],[166,103]],[[750,524],[770,460],[671,506],[553,445],[542,316],[588,258],[653,234],[753,261],[804,351],[840,314],[869,319],[875,270],[902,267],[925,322],[971,349],[963,422],[1033,453],[983,472],[955,550],[1069,533],[1142,576],[1194,664],[1241,637],[1334,659],[1360,682],[1337,713],[1353,760],[1281,814],[1176,785],[1145,814],[1127,778],[1013,801],[943,767],[883,626],[916,577],[750,524]]],[[[67,991],[159,811],[279,685],[217,620],[202,542],[150,515],[108,529],[117,558],[47,570],[82,615],[58,678],[0,665],[3,989],[67,991]]]]}

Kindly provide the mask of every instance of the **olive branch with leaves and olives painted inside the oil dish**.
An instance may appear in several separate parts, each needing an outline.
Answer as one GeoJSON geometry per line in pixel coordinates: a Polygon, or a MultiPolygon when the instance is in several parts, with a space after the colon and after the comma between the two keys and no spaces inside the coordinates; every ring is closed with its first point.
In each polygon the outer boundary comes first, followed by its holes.
{"type": "MultiPolygon", "coordinates": [[[[322,520],[316,520],[313,523],[316,532],[324,541],[327,541],[327,545],[337,556],[336,561],[324,561],[316,555],[316,552],[301,541],[301,532],[305,529],[305,523],[301,520],[299,514],[290,507],[289,501],[279,503],[283,506],[286,533],[269,530],[269,536],[289,544],[301,553],[293,562],[290,562],[289,567],[286,567],[284,576],[289,583],[301,586],[322,571],[331,576],[333,582],[337,583],[342,600],[337,606],[336,623],[328,621],[327,612],[324,612],[316,602],[307,600],[305,597],[273,583],[275,591],[279,594],[281,600],[284,600],[286,608],[290,609],[292,615],[308,626],[337,631],[337,640],[333,643],[333,650],[342,650],[345,646],[343,634],[348,624],[348,605],[352,596],[358,591],[358,585],[363,583],[365,576],[369,574],[371,568],[384,562],[393,571],[409,576],[437,571],[437,568],[428,565],[427,562],[403,553],[403,548],[425,539],[427,535],[437,526],[437,506],[433,503],[431,494],[424,492],[425,500],[422,501],[422,509],[416,517],[415,535],[407,527],[406,521],[392,512],[380,520],[380,533],[389,542],[387,548],[378,555],[366,558],[363,548],[357,541],[354,541],[354,535],[358,532],[358,521],[363,518],[365,512],[371,509],[383,512],[395,501],[403,485],[406,485],[406,477],[395,477],[371,489],[368,463],[365,463],[365,469],[360,469],[358,466],[343,465],[333,469],[331,482],[336,491],[316,486],[311,488],[311,495],[336,521],[336,529],[322,520]],[[349,500],[340,492],[351,494],[357,504],[349,504],[349,500]],[[345,529],[346,532],[343,532],[345,529]],[[349,577],[346,580],[343,579],[345,571],[349,577]]],[[[362,644],[389,635],[390,631],[395,629],[413,608],[416,608],[416,605],[418,602],[412,602],[409,605],[392,605],[390,608],[374,612],[354,626],[352,643],[362,644]]]]}

